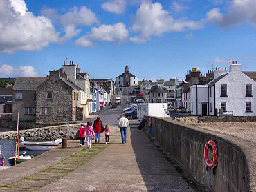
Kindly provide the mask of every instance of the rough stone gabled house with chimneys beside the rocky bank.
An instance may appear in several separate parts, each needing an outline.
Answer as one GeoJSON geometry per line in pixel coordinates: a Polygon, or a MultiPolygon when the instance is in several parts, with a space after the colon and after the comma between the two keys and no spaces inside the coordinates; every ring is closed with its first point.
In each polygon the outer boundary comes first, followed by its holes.
{"type": "Polygon", "coordinates": [[[66,73],[50,71],[48,79],[37,87],[37,122],[75,122],[80,90],[67,80],[66,73]]]}

